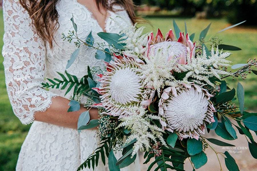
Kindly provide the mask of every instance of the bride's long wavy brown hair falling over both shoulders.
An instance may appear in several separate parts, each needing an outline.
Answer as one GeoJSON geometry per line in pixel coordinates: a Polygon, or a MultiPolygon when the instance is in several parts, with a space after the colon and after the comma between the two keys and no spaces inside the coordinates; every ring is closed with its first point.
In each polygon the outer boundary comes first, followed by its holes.
{"type": "MultiPolygon", "coordinates": [[[[55,4],[59,0],[19,0],[33,21],[37,34],[45,41],[49,42],[50,48],[53,47],[54,34],[59,28],[58,13],[55,4]]],[[[121,5],[128,13],[132,23],[139,19],[134,12],[134,3],[132,0],[115,0],[111,4],[108,0],[95,0],[97,8],[104,7],[109,11],[115,12],[113,5],[121,5]]]]}

